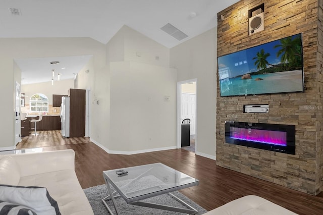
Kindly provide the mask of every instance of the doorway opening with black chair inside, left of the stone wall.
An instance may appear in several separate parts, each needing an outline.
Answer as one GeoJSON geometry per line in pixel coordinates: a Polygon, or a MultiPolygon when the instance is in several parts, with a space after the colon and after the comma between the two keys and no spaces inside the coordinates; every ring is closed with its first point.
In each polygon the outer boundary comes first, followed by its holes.
{"type": "Polygon", "coordinates": [[[195,153],[196,133],[196,79],[177,83],[177,148],[195,153]]]}

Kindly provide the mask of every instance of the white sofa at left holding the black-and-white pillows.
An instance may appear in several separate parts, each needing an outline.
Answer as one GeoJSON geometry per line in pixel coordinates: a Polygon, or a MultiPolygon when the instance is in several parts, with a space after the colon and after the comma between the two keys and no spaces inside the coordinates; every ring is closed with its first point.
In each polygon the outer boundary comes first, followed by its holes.
{"type": "Polygon", "coordinates": [[[62,215],[93,214],[76,177],[72,149],[0,155],[0,184],[45,187],[62,215]]]}

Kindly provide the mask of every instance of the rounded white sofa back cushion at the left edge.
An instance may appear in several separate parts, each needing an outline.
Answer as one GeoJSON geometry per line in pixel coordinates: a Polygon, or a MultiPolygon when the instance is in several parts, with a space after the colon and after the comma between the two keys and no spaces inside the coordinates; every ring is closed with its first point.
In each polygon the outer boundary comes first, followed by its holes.
{"type": "Polygon", "coordinates": [[[13,157],[0,158],[0,172],[0,184],[18,185],[21,170],[13,157]]]}

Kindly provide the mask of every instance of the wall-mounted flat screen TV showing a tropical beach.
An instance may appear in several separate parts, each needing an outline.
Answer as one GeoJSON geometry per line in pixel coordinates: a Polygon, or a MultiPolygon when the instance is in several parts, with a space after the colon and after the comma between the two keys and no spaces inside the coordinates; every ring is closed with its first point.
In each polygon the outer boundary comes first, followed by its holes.
{"type": "Polygon", "coordinates": [[[302,34],[218,58],[221,96],[304,92],[302,34]]]}

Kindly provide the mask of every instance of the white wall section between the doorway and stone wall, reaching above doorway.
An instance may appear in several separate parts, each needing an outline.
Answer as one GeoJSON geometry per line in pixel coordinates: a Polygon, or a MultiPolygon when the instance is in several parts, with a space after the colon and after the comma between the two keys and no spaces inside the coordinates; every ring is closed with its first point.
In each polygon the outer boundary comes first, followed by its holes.
{"type": "Polygon", "coordinates": [[[217,31],[200,34],[170,50],[177,81],[197,79],[196,153],[216,158],[217,31]]]}

